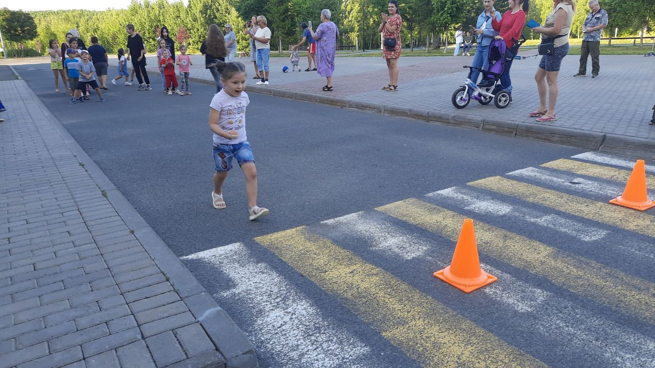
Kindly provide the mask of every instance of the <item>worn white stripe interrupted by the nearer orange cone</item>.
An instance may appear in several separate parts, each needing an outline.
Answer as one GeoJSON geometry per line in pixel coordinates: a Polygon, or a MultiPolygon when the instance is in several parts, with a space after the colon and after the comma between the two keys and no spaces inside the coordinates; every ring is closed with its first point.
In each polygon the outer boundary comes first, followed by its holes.
{"type": "MultiPolygon", "coordinates": [[[[371,249],[387,257],[405,257],[406,247],[384,248],[379,244],[429,244],[430,240],[396,227],[390,221],[367,218],[362,212],[352,213],[323,221],[339,232],[347,231],[361,236],[372,244],[371,249]],[[362,231],[362,224],[367,230],[362,231]],[[379,229],[384,229],[379,231],[379,229]]],[[[360,243],[358,243],[360,244],[360,243]]],[[[428,249],[417,250],[419,255],[434,265],[445,267],[448,259],[436,259],[427,255],[428,249]]],[[[589,310],[559,298],[543,289],[521,282],[489,265],[484,270],[498,277],[498,282],[480,289],[498,303],[506,304],[518,316],[530,321],[529,328],[536,329],[548,339],[561,342],[559,348],[575,356],[588,356],[603,363],[603,367],[648,367],[655,364],[655,340],[628,329],[618,323],[595,316],[589,310]]]]}

